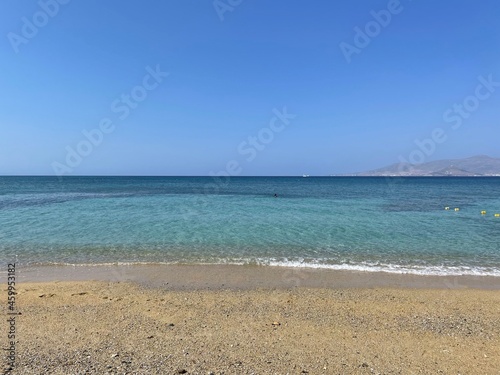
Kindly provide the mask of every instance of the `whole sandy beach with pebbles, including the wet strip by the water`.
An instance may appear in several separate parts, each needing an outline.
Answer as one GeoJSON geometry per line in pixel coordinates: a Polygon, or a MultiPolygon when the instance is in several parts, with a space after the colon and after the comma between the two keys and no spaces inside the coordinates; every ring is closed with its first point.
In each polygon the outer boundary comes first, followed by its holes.
{"type": "MultiPolygon", "coordinates": [[[[500,374],[494,278],[238,266],[84,271],[19,274],[8,373],[500,374]]],[[[5,304],[0,311],[7,316],[5,304]]]]}

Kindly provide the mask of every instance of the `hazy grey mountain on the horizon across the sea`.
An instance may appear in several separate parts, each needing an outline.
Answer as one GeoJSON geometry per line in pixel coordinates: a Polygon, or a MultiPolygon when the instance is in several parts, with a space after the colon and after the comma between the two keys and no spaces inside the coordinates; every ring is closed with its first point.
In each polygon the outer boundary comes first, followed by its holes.
{"type": "Polygon", "coordinates": [[[413,165],[392,164],[385,168],[355,173],[355,176],[500,176],[500,159],[473,156],[466,159],[436,160],[413,165]]]}

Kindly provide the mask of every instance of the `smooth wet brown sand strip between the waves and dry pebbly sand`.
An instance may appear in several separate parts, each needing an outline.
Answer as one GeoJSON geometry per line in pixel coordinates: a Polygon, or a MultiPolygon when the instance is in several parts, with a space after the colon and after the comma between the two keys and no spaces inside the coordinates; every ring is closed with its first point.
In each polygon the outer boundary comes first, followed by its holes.
{"type": "MultiPolygon", "coordinates": [[[[134,264],[18,268],[18,281],[133,282],[169,290],[403,288],[500,290],[500,277],[435,276],[262,265],[134,264]]],[[[3,275],[3,273],[2,273],[3,275]]]]}

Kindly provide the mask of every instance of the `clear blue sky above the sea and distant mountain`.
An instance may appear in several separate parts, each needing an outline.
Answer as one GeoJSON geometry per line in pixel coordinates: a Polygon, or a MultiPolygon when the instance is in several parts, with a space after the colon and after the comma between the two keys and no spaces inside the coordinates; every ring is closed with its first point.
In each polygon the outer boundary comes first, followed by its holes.
{"type": "Polygon", "coordinates": [[[0,174],[348,173],[436,128],[425,161],[500,157],[498,0],[55,1],[0,3],[0,174]]]}

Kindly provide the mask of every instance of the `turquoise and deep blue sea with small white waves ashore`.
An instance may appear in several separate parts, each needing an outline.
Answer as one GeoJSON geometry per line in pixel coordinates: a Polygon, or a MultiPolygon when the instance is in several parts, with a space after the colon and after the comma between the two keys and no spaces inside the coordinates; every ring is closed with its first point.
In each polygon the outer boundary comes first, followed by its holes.
{"type": "Polygon", "coordinates": [[[0,177],[0,263],[500,276],[495,213],[494,177],[0,177]]]}

